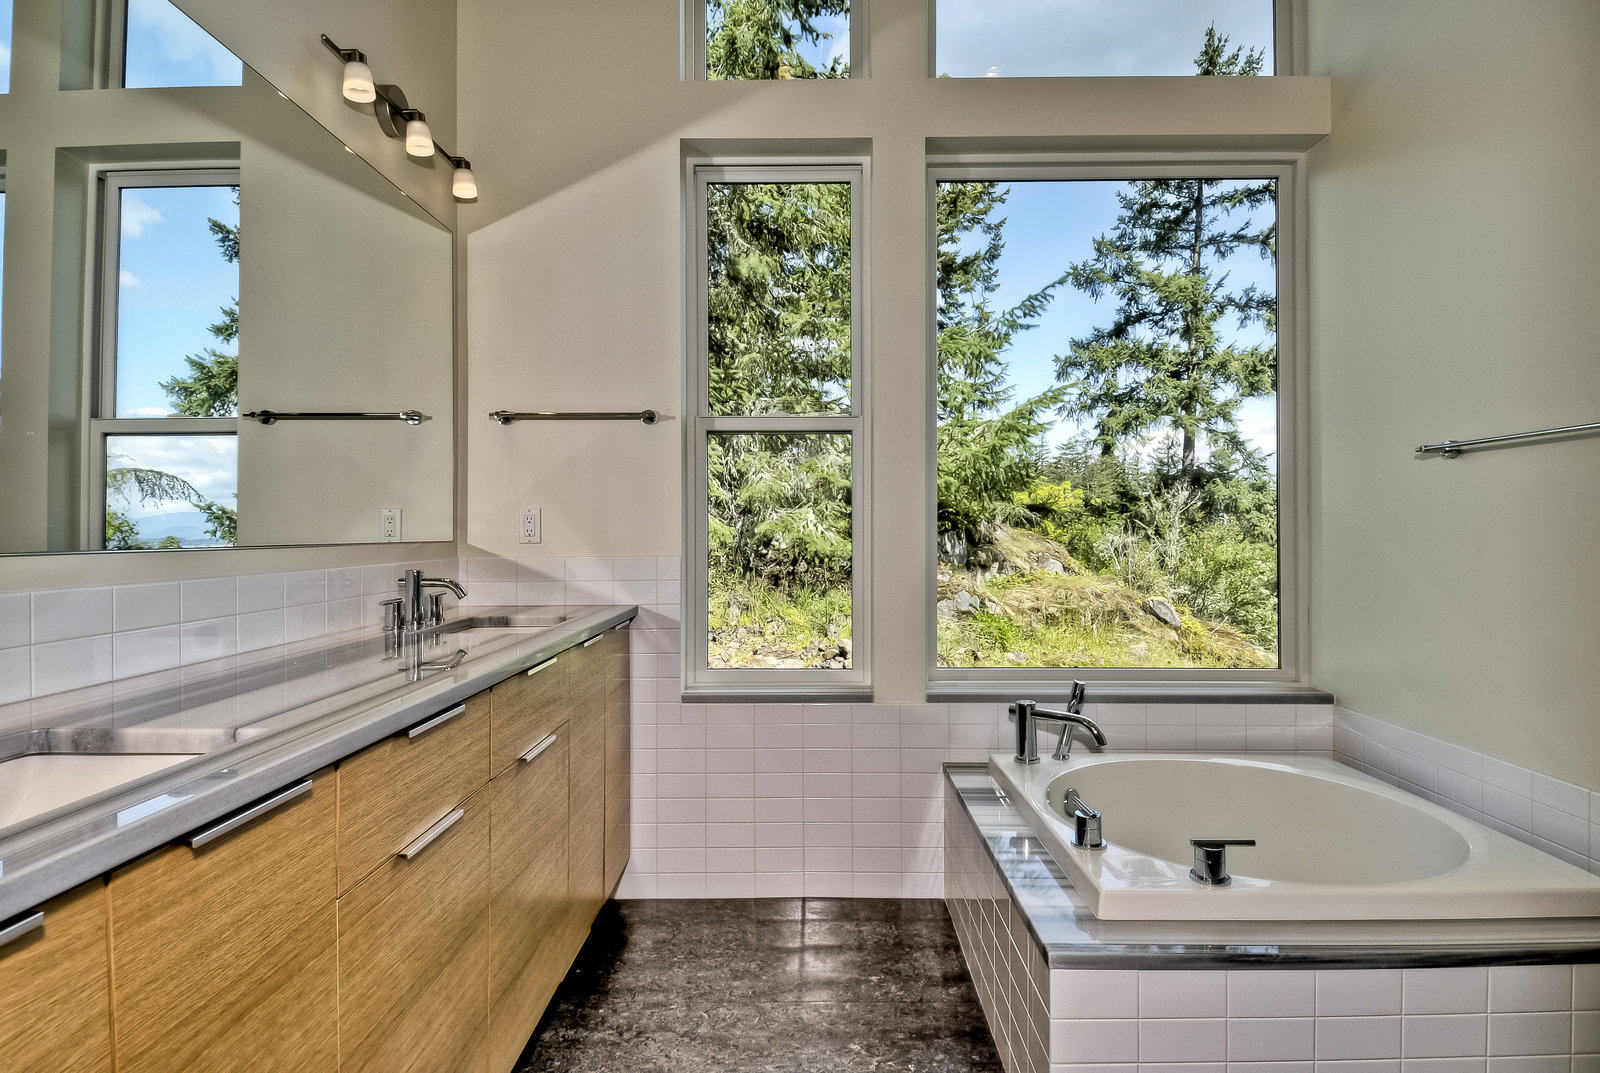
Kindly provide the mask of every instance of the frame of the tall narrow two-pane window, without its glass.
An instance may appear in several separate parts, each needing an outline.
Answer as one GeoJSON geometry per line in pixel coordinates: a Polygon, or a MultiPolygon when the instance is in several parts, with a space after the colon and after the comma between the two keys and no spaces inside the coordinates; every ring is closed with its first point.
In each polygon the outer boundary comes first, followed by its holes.
{"type": "Polygon", "coordinates": [[[867,360],[867,229],[870,162],[864,157],[691,158],[685,162],[685,366],[683,377],[683,696],[765,700],[870,697],[872,691],[872,534],[870,389],[867,360]],[[850,411],[838,414],[714,416],[709,401],[706,187],[718,182],[850,182],[850,411]],[[850,437],[851,665],[822,668],[709,667],[707,449],[712,433],[843,433],[850,437]]]}

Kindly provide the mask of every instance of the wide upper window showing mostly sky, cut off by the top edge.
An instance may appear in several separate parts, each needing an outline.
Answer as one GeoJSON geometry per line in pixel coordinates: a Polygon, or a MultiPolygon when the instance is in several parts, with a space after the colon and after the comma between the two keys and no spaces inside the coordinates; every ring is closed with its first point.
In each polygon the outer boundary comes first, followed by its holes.
{"type": "MultiPolygon", "coordinates": [[[[936,0],[936,75],[1192,75],[1206,29],[1274,72],[1274,0],[936,0]]],[[[1286,22],[1286,19],[1283,19],[1286,22]]],[[[1286,50],[1285,50],[1286,54],[1286,50]]],[[[1221,56],[1218,59],[1226,59],[1221,56]]]]}

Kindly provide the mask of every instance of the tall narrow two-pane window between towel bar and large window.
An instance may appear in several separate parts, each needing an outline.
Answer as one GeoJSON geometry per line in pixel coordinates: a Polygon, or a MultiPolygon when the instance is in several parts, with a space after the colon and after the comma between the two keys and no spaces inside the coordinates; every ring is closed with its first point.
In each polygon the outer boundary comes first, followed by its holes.
{"type": "Polygon", "coordinates": [[[861,163],[691,166],[688,689],[861,689],[861,163]]]}

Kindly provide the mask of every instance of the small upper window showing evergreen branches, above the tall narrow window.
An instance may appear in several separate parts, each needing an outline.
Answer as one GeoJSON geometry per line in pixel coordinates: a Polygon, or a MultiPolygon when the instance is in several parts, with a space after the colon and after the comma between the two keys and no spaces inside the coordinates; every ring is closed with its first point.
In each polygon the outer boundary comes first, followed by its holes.
{"type": "Polygon", "coordinates": [[[691,0],[685,74],[707,82],[850,78],[864,74],[866,0],[691,0]]]}

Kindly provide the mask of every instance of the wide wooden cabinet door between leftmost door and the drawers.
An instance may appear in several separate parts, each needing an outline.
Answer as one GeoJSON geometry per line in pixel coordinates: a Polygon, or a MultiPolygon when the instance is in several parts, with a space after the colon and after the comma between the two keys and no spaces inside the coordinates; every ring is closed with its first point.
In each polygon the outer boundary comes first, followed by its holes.
{"type": "Polygon", "coordinates": [[[118,1073],[333,1073],[333,772],[112,873],[118,1073]]]}

